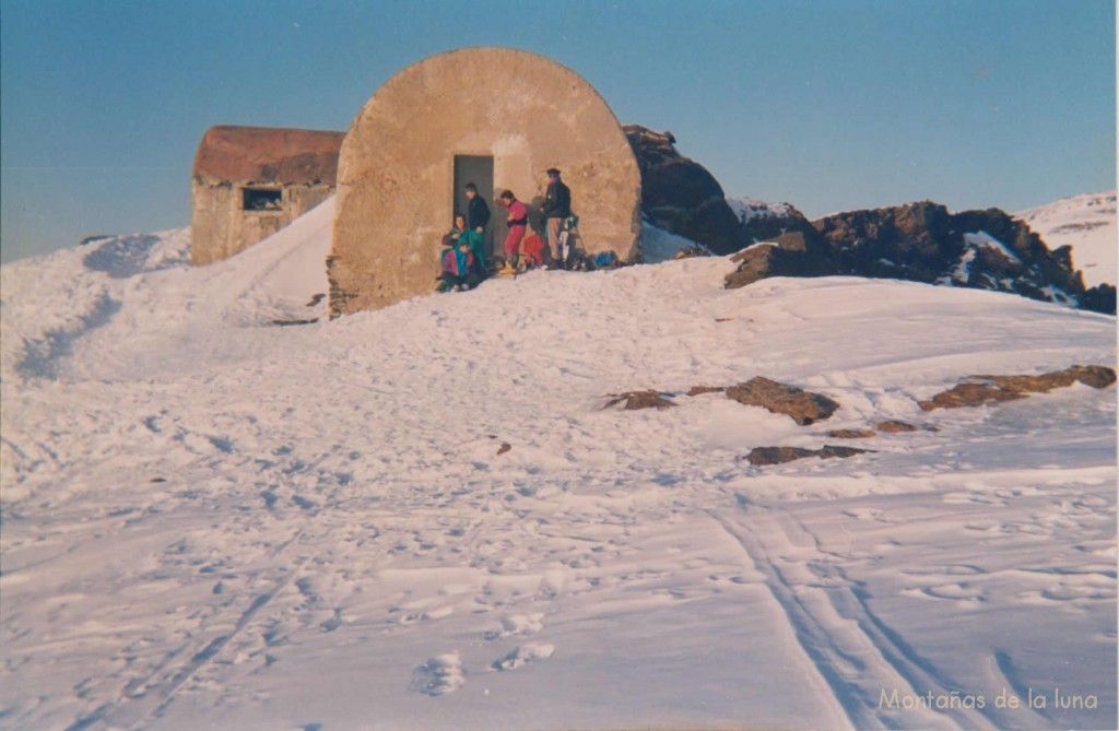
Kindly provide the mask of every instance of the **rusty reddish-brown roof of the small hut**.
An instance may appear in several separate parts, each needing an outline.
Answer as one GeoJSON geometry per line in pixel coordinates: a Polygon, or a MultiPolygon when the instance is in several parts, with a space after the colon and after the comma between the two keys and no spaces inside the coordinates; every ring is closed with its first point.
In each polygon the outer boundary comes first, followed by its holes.
{"type": "Polygon", "coordinates": [[[206,130],[195,177],[245,182],[333,185],[345,132],[222,124],[206,130]]]}

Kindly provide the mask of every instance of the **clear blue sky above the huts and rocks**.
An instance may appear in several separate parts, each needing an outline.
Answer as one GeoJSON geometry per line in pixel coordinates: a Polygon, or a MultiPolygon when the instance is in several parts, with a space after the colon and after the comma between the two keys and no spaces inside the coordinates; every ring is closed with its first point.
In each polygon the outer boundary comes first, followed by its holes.
{"type": "Polygon", "coordinates": [[[554,58],[809,217],[1116,185],[1112,0],[0,0],[3,260],[188,225],[208,126],[346,130],[462,46],[554,58]]]}

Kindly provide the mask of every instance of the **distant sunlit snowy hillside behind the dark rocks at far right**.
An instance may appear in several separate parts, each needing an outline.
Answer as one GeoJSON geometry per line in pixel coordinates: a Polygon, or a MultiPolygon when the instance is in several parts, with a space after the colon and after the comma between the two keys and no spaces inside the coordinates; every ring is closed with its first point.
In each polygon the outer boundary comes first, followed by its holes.
{"type": "Polygon", "coordinates": [[[1050,249],[1072,246],[1072,264],[1084,274],[1084,284],[1116,284],[1119,238],[1116,193],[1064,198],[1016,214],[1029,224],[1050,249]]]}

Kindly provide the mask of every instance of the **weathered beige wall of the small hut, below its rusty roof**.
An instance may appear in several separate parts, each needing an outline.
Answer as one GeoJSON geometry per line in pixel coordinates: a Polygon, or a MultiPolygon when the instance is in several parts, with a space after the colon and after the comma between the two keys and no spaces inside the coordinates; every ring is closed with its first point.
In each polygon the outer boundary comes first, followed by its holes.
{"type": "Polygon", "coordinates": [[[210,264],[233,256],[276,233],[335,191],[330,185],[273,186],[283,195],[279,210],[244,210],[245,187],[243,182],[195,178],[190,232],[192,264],[210,264]]]}

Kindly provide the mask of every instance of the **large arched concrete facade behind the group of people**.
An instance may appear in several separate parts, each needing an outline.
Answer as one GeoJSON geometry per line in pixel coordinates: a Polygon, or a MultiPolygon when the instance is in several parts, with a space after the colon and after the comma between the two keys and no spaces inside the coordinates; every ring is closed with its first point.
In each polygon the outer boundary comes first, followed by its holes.
{"type": "MultiPolygon", "coordinates": [[[[455,160],[492,159],[479,193],[504,237],[511,190],[535,214],[558,168],[589,254],[640,253],[641,175],[613,112],[581,76],[509,48],[432,56],[393,76],[354,120],[338,163],[328,270],[332,316],[426,294],[455,212],[455,160]]],[[[536,222],[533,222],[536,223],[536,222]]]]}

